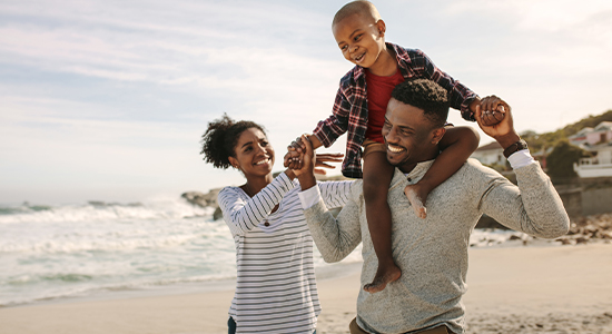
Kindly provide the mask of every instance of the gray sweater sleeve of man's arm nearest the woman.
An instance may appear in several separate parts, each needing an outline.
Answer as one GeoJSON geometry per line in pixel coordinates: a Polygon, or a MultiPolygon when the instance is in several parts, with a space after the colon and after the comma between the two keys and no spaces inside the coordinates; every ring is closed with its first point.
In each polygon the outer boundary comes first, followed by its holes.
{"type": "Polygon", "coordinates": [[[337,218],[334,218],[322,199],[304,210],[310,235],[327,263],[342,261],[362,242],[359,196],[354,193],[356,184],[351,183],[348,202],[337,218]]]}

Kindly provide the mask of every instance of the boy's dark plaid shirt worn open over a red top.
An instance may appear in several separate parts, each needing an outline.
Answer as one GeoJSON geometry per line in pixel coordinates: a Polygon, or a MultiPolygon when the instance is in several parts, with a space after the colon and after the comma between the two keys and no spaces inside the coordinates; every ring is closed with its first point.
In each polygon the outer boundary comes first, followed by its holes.
{"type": "MultiPolygon", "coordinates": [[[[468,109],[470,102],[477,97],[475,92],[440,70],[423,51],[404,49],[393,43],[387,43],[387,48],[395,50],[404,79],[425,78],[435,81],[450,92],[451,107],[461,110],[463,118],[475,120],[468,109]]],[[[366,128],[365,70],[361,66],[355,66],[340,79],[332,116],[319,121],[313,134],[325,147],[329,147],[339,136],[348,131],[342,174],[346,177],[362,178],[362,144],[366,128]]]]}

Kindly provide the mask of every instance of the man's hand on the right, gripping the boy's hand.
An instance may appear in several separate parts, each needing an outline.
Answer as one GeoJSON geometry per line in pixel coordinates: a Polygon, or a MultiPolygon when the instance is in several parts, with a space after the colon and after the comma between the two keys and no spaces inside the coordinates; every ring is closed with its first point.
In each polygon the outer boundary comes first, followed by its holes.
{"type": "Polygon", "coordinates": [[[497,140],[503,148],[511,146],[512,144],[519,141],[521,137],[514,130],[514,121],[512,119],[512,108],[506,101],[501,98],[492,95],[482,99],[481,108],[476,110],[476,122],[481,129],[493,139],[497,140]],[[492,112],[503,108],[505,116],[499,124],[486,125],[483,114],[492,112]]]}

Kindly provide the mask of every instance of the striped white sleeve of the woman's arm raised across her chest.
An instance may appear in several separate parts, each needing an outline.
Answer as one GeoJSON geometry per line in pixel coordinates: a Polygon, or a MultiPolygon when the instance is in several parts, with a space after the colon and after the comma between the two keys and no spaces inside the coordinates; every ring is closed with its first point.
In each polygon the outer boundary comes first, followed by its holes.
{"type": "Polygon", "coordinates": [[[219,207],[224,214],[224,220],[229,226],[231,234],[244,235],[259,225],[269,216],[273,208],[280,203],[283,196],[294,188],[294,183],[285,173],[278,175],[261,191],[245,202],[240,197],[239,189],[226,187],[219,191],[219,207]]]}

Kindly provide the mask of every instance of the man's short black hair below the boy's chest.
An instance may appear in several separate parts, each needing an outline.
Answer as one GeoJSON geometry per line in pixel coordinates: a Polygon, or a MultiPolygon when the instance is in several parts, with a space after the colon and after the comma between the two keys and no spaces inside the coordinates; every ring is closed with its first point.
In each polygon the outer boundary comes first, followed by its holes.
{"type": "Polygon", "coordinates": [[[423,109],[425,117],[435,127],[443,127],[448,117],[448,92],[427,79],[406,80],[393,89],[391,97],[402,104],[423,109]]]}

